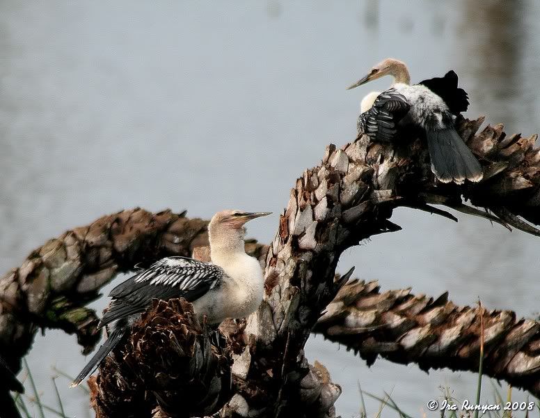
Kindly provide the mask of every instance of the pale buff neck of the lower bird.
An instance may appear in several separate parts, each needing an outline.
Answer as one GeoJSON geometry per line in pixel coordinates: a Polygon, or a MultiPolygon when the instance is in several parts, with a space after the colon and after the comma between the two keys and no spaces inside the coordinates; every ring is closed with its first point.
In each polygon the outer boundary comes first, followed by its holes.
{"type": "Polygon", "coordinates": [[[212,262],[223,267],[237,256],[246,254],[244,233],[244,228],[210,224],[208,239],[212,262]]]}

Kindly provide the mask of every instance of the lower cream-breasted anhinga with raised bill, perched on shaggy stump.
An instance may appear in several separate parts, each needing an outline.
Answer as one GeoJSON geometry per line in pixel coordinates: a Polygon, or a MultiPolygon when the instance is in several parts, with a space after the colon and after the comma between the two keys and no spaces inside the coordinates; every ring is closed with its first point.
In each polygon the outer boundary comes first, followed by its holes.
{"type": "Polygon", "coordinates": [[[98,325],[112,324],[112,332],[72,387],[100,365],[153,299],[184,297],[193,303],[198,318],[206,316],[209,324],[219,324],[226,318],[244,318],[257,310],[264,279],[259,261],[244,249],[244,224],[270,213],[218,212],[208,225],[212,263],[180,256],[162,258],[113,288],[109,293],[113,300],[98,325]]]}

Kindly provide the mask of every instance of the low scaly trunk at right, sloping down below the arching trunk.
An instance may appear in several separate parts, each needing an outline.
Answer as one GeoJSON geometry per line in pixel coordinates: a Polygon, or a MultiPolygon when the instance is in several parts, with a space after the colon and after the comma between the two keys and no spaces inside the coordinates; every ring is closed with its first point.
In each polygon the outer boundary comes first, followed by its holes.
{"type": "Polygon", "coordinates": [[[371,365],[377,356],[414,362],[420,369],[477,373],[481,317],[484,318],[486,376],[540,395],[540,322],[519,319],[512,311],[458,307],[448,293],[437,298],[411,289],[380,293],[377,281],[352,281],[337,297],[313,332],[340,343],[371,365]]]}

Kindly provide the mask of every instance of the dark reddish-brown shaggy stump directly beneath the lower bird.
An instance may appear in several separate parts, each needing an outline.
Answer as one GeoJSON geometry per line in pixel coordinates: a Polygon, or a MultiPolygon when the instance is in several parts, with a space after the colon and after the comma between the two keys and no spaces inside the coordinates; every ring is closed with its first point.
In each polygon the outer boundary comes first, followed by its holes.
{"type": "Polygon", "coordinates": [[[97,417],[210,415],[230,399],[231,353],[184,300],[154,300],[90,382],[97,417]],[[214,334],[214,345],[209,335],[214,334]]]}

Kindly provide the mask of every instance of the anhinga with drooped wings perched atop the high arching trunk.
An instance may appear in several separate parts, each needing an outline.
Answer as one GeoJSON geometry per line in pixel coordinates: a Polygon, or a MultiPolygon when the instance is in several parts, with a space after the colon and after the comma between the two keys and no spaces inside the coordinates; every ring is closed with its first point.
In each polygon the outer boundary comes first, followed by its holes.
{"type": "Polygon", "coordinates": [[[394,77],[394,83],[388,90],[364,98],[358,133],[377,141],[393,141],[398,126],[420,128],[427,139],[431,171],[438,180],[458,184],[482,180],[482,167],[454,128],[456,116],[469,104],[467,93],[457,86],[456,73],[449,71],[444,77],[411,86],[406,65],[388,58],[348,89],[384,75],[394,77]]]}

